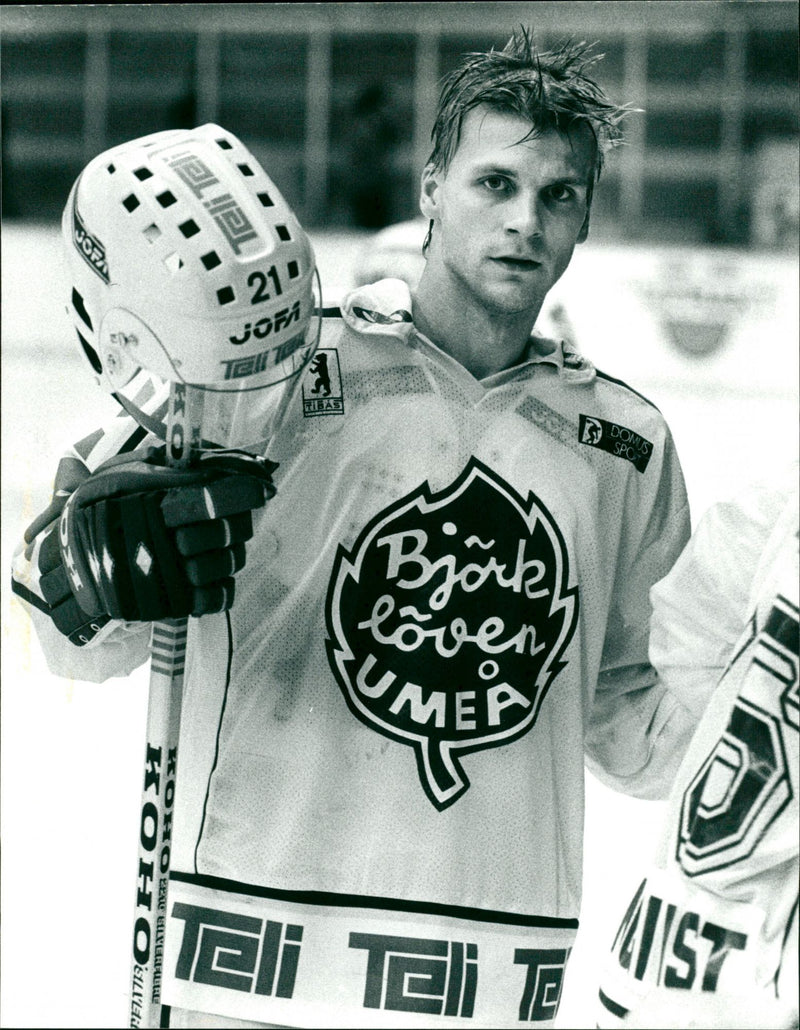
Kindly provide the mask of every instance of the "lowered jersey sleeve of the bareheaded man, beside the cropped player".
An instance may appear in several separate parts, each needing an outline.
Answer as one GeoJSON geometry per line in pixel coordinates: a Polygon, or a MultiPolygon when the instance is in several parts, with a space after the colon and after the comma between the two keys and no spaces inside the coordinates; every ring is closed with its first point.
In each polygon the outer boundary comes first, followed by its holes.
{"type": "Polygon", "coordinates": [[[683,472],[666,426],[664,435],[657,489],[645,517],[623,527],[585,742],[587,766],[600,781],[635,797],[659,799],[668,794],[696,724],[693,707],[704,703],[701,698],[690,706],[669,689],[648,656],[651,588],[672,568],[691,528],[683,472]]]}

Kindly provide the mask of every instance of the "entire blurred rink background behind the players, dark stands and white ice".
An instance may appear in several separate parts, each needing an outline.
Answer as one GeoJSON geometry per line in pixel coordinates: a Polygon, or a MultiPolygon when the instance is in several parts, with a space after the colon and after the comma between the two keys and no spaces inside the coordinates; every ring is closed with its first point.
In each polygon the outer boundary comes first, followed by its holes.
{"type": "MultiPolygon", "coordinates": [[[[589,241],[537,323],[664,413],[693,522],[798,452],[800,185],[794,0],[0,6],[2,87],[1,1026],[127,1021],[147,670],[46,667],[8,590],[60,451],[113,416],[64,312],[59,220],[83,166],[216,122],[309,230],[328,299],[422,267],[419,171],[441,76],[529,25],[596,41],[641,108],[589,241]]],[[[587,780],[586,894],[559,1025],[594,1026],[599,956],[661,806],[587,780]]]]}

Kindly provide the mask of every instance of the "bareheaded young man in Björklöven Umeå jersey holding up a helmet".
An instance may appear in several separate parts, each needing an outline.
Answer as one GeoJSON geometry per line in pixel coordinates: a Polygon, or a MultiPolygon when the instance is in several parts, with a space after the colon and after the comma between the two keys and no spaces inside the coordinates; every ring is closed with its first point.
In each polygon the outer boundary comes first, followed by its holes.
{"type": "MultiPolygon", "coordinates": [[[[669,788],[694,721],[647,657],[648,591],[689,535],[671,437],[531,332],[619,137],[590,65],[518,33],[449,78],[419,286],[326,312],[236,603],[190,621],[163,985],[179,1024],[552,1025],[584,760],[638,796],[669,788]]],[[[18,579],[35,581],[22,558],[18,579]]],[[[146,660],[141,623],[109,626],[50,640],[51,665],[146,660]]]]}

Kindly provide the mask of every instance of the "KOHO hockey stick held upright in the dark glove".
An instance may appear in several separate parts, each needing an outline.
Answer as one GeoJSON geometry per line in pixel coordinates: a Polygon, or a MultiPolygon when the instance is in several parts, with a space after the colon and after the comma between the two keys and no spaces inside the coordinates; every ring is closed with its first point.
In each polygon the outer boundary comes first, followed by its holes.
{"type": "MultiPolygon", "coordinates": [[[[169,465],[181,467],[190,461],[193,445],[201,441],[203,397],[202,389],[171,384],[169,465]]],[[[169,1025],[161,991],[187,627],[187,619],[168,619],[152,627],[133,930],[132,1027],[169,1025]]]]}

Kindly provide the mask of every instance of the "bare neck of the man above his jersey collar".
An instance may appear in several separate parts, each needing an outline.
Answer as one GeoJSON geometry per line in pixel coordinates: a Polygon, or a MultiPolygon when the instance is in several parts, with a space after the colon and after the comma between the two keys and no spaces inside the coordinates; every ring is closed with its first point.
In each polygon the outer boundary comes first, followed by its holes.
{"type": "Polygon", "coordinates": [[[414,324],[432,343],[485,379],[522,360],[538,312],[498,312],[452,303],[423,273],[413,297],[414,324]]]}

